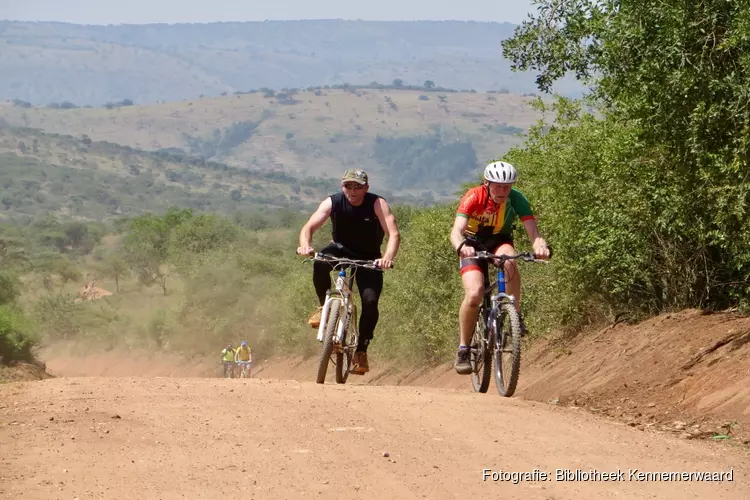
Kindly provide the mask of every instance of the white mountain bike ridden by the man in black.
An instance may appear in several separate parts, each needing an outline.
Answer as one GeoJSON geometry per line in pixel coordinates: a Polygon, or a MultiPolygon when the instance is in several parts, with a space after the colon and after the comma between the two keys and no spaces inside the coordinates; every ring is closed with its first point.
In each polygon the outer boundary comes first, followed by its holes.
{"type": "Polygon", "coordinates": [[[345,384],[359,341],[357,305],[352,299],[354,276],[360,267],[377,271],[382,269],[375,265],[374,260],[355,260],[323,253],[315,253],[305,261],[325,262],[331,264],[334,271],[338,271],[334,288],[326,291],[320,316],[317,339],[323,343],[323,351],[320,354],[316,381],[319,384],[325,383],[328,364],[332,362],[336,367],[336,383],[345,384]],[[351,269],[348,275],[347,269],[351,269]]]}

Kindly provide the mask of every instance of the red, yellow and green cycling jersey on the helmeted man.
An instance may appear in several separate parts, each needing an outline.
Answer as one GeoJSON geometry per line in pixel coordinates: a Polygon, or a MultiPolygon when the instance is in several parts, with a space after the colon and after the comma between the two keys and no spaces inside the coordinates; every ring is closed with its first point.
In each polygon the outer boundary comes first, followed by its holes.
{"type": "Polygon", "coordinates": [[[469,219],[465,233],[479,240],[497,234],[512,236],[515,215],[522,221],[534,218],[529,200],[515,187],[501,205],[492,201],[485,186],[471,188],[461,198],[456,215],[469,219]]]}

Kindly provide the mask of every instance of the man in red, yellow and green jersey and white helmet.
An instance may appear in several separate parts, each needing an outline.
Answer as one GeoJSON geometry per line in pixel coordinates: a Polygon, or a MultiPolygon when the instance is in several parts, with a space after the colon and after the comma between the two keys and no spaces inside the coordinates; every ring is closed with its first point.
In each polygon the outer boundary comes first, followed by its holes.
{"type": "MultiPolygon", "coordinates": [[[[515,255],[513,223],[515,218],[519,217],[526,228],[526,234],[529,235],[536,257],[549,257],[547,242],[539,233],[529,200],[513,186],[517,179],[518,173],[510,163],[495,161],[485,167],[482,185],[466,192],[456,210],[456,220],[450,235],[453,248],[458,250],[468,236],[476,240],[478,245],[484,247],[483,249],[496,255],[515,255]]],[[[458,314],[460,344],[454,367],[460,374],[471,373],[469,344],[484,294],[483,273],[488,272],[487,262],[472,258],[475,252],[474,246],[467,243],[461,247],[459,254],[464,300],[458,314]]],[[[518,266],[515,261],[509,260],[505,262],[504,269],[506,289],[515,297],[516,310],[520,313],[521,278],[518,266]]],[[[521,331],[522,334],[526,332],[523,319],[521,331]]]]}

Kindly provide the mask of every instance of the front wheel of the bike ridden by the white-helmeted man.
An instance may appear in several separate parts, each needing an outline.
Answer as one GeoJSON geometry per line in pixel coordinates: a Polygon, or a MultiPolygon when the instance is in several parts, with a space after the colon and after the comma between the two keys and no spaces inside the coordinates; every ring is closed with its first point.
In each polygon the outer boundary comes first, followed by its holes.
{"type": "Polygon", "coordinates": [[[501,396],[516,391],[521,371],[521,321],[513,304],[502,304],[495,320],[495,384],[501,396]]]}

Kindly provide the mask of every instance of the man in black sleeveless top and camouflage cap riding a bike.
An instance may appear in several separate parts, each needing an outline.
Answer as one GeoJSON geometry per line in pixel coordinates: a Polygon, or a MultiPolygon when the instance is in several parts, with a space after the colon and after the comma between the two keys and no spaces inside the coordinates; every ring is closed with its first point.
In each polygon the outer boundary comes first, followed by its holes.
{"type": "MultiPolygon", "coordinates": [[[[329,196],[320,204],[300,231],[299,255],[311,255],[312,236],[330,217],[333,226],[332,241],[320,253],[352,259],[375,260],[388,269],[396,257],[400,234],[396,218],[386,200],[369,193],[367,174],[361,169],[350,169],[341,179],[342,192],[329,196]],[[385,235],[388,244],[381,253],[385,235]]],[[[331,266],[322,262],[313,265],[313,285],[318,296],[319,307],[308,320],[313,328],[320,325],[320,314],[326,291],[331,288],[331,266]]],[[[383,289],[383,274],[371,269],[359,269],[355,276],[357,289],[362,299],[362,314],[359,318],[359,345],[352,359],[352,373],[369,371],[367,347],[373,338],[378,322],[378,300],[383,289]]]]}

